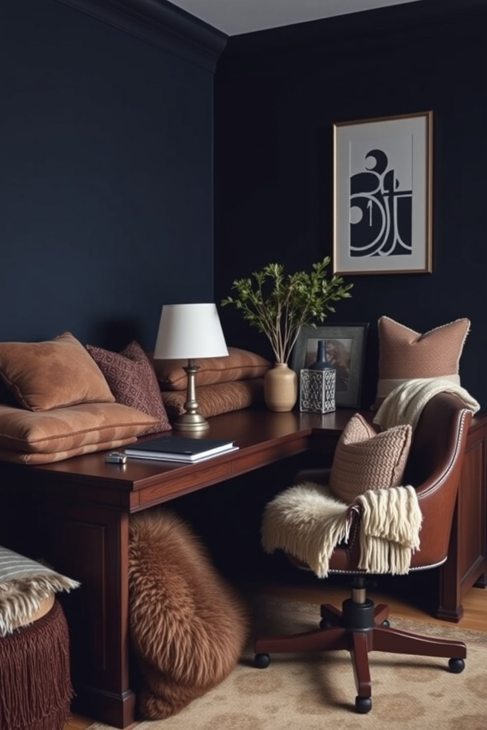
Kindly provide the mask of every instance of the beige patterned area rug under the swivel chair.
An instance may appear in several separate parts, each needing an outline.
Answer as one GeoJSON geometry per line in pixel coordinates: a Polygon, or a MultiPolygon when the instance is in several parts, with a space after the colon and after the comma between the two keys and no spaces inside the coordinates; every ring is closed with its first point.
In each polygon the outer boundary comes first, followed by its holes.
{"type": "MultiPolygon", "coordinates": [[[[316,605],[272,597],[253,599],[256,633],[297,633],[317,626],[316,605]]],[[[455,624],[395,619],[391,626],[467,644],[464,672],[448,660],[373,652],[372,710],[355,712],[350,655],[275,654],[267,669],[253,666],[249,644],[234,672],[178,715],[143,721],[137,730],[486,730],[487,634],[455,624]]],[[[88,730],[114,730],[94,723],[88,730]]]]}

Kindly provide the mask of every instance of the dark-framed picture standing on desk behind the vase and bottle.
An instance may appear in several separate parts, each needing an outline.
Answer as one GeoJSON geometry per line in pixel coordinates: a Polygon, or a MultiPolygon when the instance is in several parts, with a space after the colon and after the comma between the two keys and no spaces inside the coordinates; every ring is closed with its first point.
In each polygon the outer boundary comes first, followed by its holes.
{"type": "Polygon", "coordinates": [[[291,368],[298,376],[316,361],[318,342],[325,341],[326,361],[336,370],[335,404],[360,408],[365,345],[369,323],[302,327],[291,354],[291,368]]]}

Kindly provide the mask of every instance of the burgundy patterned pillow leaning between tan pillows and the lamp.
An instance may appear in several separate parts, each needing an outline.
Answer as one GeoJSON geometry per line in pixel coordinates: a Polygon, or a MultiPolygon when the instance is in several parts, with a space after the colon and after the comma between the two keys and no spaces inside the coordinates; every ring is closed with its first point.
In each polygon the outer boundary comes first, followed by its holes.
{"type": "Polygon", "coordinates": [[[86,349],[104,374],[117,403],[137,408],[158,419],[156,426],[150,426],[145,434],[172,428],[153,366],[138,342],[134,340],[121,353],[93,345],[86,345],[86,349]]]}

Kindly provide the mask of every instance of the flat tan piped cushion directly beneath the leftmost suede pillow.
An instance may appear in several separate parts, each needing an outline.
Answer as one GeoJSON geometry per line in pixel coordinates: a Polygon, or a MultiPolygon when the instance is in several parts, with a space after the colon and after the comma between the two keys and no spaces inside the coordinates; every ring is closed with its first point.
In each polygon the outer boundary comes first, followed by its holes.
{"type": "Polygon", "coordinates": [[[83,403],[37,413],[0,405],[0,448],[49,454],[98,447],[137,437],[154,423],[154,416],[120,403],[83,403]]]}

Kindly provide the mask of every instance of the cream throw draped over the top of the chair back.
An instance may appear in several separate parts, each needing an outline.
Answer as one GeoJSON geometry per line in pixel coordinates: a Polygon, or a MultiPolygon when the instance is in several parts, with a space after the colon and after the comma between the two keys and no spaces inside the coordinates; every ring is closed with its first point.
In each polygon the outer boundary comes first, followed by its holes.
{"type": "Polygon", "coordinates": [[[451,380],[444,377],[415,378],[398,385],[389,393],[377,411],[374,423],[384,431],[404,423],[408,423],[414,430],[423,407],[437,393],[453,393],[472,412],[480,410],[478,401],[465,388],[451,380]]]}

